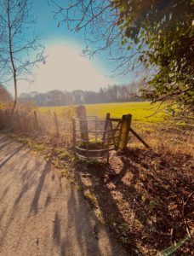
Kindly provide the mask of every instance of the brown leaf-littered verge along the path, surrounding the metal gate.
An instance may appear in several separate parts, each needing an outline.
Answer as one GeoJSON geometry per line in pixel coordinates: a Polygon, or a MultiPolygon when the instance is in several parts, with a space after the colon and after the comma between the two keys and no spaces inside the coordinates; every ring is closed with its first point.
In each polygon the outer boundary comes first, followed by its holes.
{"type": "MultiPolygon", "coordinates": [[[[80,190],[96,216],[114,232],[129,255],[157,255],[185,236],[193,236],[191,128],[133,124],[151,149],[145,149],[129,136],[128,150],[111,152],[110,164],[107,164],[75,158],[71,148],[71,113],[61,119],[62,132],[58,136],[54,128],[44,129],[48,124],[46,119],[48,117],[42,116],[35,131],[33,125],[36,124],[27,121],[32,127],[28,131],[22,125],[22,129],[15,126],[17,129],[4,131],[44,154],[45,159],[80,190]]],[[[194,245],[189,239],[175,255],[192,255],[193,251],[194,245]]]]}

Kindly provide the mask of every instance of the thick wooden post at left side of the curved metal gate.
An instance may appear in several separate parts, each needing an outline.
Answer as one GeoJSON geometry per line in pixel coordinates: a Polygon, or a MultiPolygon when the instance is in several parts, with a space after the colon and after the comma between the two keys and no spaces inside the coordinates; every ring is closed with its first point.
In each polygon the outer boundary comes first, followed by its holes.
{"type": "Polygon", "coordinates": [[[86,115],[86,108],[85,106],[78,106],[76,108],[77,111],[77,118],[79,118],[79,125],[80,125],[80,134],[81,138],[88,142],[88,121],[86,115]]]}

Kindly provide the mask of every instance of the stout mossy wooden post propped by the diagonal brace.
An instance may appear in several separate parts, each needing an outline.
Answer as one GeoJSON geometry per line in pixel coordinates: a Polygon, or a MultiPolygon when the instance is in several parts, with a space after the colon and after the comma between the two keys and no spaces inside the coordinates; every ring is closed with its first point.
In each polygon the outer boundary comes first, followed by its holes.
{"type": "Polygon", "coordinates": [[[127,148],[127,145],[128,145],[128,132],[130,130],[132,115],[130,113],[124,114],[122,119],[123,119],[123,124],[121,127],[122,135],[121,135],[121,143],[120,143],[121,150],[127,148]]]}

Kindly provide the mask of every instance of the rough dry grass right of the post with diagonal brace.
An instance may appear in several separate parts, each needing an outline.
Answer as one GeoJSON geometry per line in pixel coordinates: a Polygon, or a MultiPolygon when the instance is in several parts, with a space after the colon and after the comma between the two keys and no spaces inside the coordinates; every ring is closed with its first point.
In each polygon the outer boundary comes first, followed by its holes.
{"type": "MultiPolygon", "coordinates": [[[[194,155],[194,130],[192,127],[168,123],[159,125],[134,123],[133,128],[156,152],[194,155]]],[[[133,148],[144,148],[133,135],[129,137],[129,143],[133,148]]]]}

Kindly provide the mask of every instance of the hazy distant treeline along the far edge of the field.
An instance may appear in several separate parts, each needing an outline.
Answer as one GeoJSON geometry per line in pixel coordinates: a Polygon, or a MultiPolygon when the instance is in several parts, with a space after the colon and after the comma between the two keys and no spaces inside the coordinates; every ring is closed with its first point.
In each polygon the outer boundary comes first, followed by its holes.
{"type": "Polygon", "coordinates": [[[92,90],[74,90],[71,92],[50,90],[46,93],[22,93],[20,102],[34,102],[37,106],[63,106],[69,104],[89,104],[106,102],[142,102],[139,83],[109,85],[98,92],[92,90]]]}

